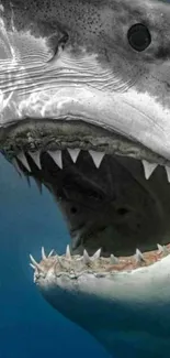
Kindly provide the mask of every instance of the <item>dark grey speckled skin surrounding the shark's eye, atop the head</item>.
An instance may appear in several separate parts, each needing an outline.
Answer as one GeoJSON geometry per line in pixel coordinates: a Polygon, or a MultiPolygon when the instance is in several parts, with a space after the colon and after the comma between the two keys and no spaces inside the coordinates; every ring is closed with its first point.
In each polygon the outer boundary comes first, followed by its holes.
{"type": "Polygon", "coordinates": [[[48,45],[54,53],[58,39],[68,32],[68,46],[71,46],[73,56],[82,47],[89,54],[97,54],[100,64],[110,67],[120,80],[141,93],[147,87],[149,95],[169,108],[170,75],[165,80],[165,67],[161,66],[170,56],[170,10],[167,4],[139,0],[125,0],[121,7],[118,0],[1,2],[9,29],[13,11],[15,29],[19,32],[31,30],[35,37],[52,37],[48,45]],[[127,43],[127,30],[137,22],[146,24],[152,36],[151,46],[144,53],[135,53],[127,43]]]}

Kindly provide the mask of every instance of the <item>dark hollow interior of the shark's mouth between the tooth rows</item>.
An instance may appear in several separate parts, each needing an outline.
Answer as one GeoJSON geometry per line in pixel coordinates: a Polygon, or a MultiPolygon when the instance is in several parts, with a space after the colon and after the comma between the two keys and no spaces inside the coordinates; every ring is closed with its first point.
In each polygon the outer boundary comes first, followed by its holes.
{"type": "Polygon", "coordinates": [[[41,151],[39,169],[25,152],[31,172],[16,159],[29,177],[53,193],[66,217],[72,253],[86,248],[103,257],[134,256],[167,245],[170,234],[170,184],[163,166],[150,178],[139,160],[106,154],[99,169],[88,151],[81,150],[76,163],[68,150],[61,151],[63,169],[46,151],[41,151]]]}

